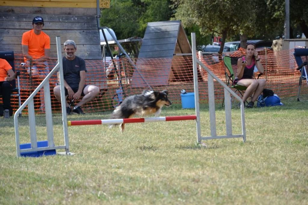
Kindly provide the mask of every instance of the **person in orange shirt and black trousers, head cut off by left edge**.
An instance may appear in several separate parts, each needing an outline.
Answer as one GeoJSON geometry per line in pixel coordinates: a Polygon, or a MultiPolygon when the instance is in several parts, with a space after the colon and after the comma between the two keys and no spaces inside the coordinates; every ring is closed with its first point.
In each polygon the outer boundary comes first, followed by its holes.
{"type": "Polygon", "coordinates": [[[5,59],[0,58],[0,94],[2,94],[4,118],[10,118],[10,115],[13,114],[10,84],[12,80],[15,80],[15,72],[12,66],[5,59]]]}

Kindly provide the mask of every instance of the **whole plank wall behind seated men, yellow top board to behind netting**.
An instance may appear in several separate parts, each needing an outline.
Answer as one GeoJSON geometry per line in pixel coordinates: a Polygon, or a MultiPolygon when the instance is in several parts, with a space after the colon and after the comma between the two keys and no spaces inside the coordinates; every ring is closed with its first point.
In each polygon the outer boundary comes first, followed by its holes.
{"type": "MultiPolygon", "coordinates": [[[[56,36],[61,37],[61,50],[67,39],[74,40],[77,45],[76,55],[86,60],[87,82],[90,82],[88,84],[97,85],[101,90],[106,90],[105,67],[97,30],[96,0],[2,0],[0,2],[0,51],[13,50],[17,57],[16,65],[23,61],[22,34],[33,29],[32,20],[35,16],[41,16],[44,19],[43,31],[50,36],[51,57],[57,58],[56,36]],[[100,74],[96,74],[97,72],[100,74]]],[[[62,56],[64,55],[63,52],[62,56]]],[[[50,62],[50,66],[53,62],[50,62]]],[[[21,68],[17,66],[16,69],[21,68]]],[[[28,81],[27,78],[22,79],[25,85],[28,81]]]]}

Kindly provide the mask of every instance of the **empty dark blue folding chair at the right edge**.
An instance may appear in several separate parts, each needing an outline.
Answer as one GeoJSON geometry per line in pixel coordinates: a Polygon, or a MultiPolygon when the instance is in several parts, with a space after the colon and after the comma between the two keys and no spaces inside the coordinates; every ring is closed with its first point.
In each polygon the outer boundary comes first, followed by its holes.
{"type": "MultiPolygon", "coordinates": [[[[295,61],[298,65],[296,70],[301,71],[301,75],[299,76],[299,85],[298,85],[298,93],[297,93],[297,101],[299,100],[299,95],[301,92],[302,81],[306,79],[307,86],[308,86],[308,76],[307,76],[307,55],[308,55],[308,48],[294,48],[294,57],[295,61]],[[306,56],[306,61],[303,62],[302,56],[306,56]]],[[[306,101],[306,100],[305,100],[306,101]]]]}

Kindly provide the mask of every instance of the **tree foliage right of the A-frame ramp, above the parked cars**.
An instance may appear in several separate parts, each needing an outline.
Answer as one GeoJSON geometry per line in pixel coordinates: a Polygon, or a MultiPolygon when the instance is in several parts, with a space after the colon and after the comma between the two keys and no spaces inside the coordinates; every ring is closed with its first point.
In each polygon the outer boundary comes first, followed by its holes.
{"type": "MultiPolygon", "coordinates": [[[[185,28],[200,27],[201,35],[217,34],[225,39],[274,39],[283,33],[284,0],[173,0],[175,17],[185,28]]],[[[308,4],[305,0],[290,0],[290,22],[295,33],[307,28],[308,4]]]]}

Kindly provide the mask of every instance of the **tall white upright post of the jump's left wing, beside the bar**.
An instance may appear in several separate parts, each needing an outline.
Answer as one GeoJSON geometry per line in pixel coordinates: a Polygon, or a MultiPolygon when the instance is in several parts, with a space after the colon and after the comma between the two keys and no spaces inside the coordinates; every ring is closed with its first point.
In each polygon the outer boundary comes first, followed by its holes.
{"type": "Polygon", "coordinates": [[[61,108],[62,108],[62,123],[63,123],[63,135],[65,143],[65,151],[70,152],[69,143],[68,143],[68,131],[67,131],[67,116],[66,116],[66,99],[65,99],[65,90],[64,90],[64,75],[63,75],[63,64],[62,64],[62,49],[61,49],[61,40],[60,36],[56,37],[57,41],[57,52],[58,52],[58,62],[59,62],[59,82],[60,82],[60,92],[61,92],[61,108]]]}

